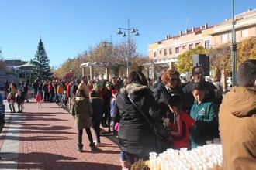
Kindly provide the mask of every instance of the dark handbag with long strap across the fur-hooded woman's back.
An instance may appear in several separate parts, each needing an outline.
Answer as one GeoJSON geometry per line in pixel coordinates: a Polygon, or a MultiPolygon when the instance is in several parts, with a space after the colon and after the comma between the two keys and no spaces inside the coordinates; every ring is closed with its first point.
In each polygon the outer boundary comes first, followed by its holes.
{"type": "Polygon", "coordinates": [[[153,129],[155,137],[156,137],[156,148],[157,153],[161,153],[166,151],[166,149],[170,148],[170,141],[168,138],[168,131],[164,127],[164,124],[161,124],[159,121],[155,121],[154,123],[150,121],[150,119],[144,114],[142,110],[133,102],[130,95],[128,95],[130,102],[133,104],[133,107],[139,111],[139,113],[146,119],[146,121],[150,124],[150,127],[153,129]]]}

